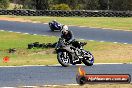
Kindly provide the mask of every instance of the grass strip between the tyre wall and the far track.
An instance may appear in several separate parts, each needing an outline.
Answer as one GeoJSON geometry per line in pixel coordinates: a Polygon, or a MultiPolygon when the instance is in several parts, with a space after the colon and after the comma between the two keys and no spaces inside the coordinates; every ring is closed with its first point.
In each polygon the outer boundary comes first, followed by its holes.
{"type": "MultiPolygon", "coordinates": [[[[1,16],[3,17],[3,16],[1,16]]],[[[66,25],[77,25],[97,28],[111,28],[120,30],[132,30],[132,17],[45,17],[45,16],[4,16],[11,18],[23,18],[25,20],[47,23],[56,19],[66,25]]]]}

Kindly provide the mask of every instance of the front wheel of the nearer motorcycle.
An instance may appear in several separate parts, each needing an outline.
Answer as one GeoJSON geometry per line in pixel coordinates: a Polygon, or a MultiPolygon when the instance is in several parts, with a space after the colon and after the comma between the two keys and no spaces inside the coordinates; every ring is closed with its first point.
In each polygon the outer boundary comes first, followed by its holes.
{"type": "Polygon", "coordinates": [[[70,66],[70,55],[67,52],[58,52],[57,59],[63,67],[70,66]]]}

